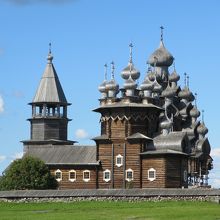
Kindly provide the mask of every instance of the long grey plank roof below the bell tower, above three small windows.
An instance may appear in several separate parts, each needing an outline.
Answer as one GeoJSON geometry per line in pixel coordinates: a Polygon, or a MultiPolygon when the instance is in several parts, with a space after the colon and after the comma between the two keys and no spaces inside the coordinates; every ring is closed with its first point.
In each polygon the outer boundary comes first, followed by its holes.
{"type": "Polygon", "coordinates": [[[24,155],[43,160],[47,165],[98,165],[96,146],[37,145],[26,146],[24,155]]]}

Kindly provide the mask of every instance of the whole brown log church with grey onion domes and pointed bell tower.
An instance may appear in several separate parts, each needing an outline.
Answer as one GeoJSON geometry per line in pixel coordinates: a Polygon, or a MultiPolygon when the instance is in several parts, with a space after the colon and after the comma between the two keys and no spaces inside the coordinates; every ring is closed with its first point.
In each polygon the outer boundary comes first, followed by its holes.
{"type": "MultiPolygon", "coordinates": [[[[210,144],[196,96],[185,85],[165,48],[163,29],[159,48],[148,59],[148,72],[137,85],[140,72],[130,59],[121,76],[121,88],[105,78],[99,86],[101,133],[96,145],[75,145],[68,140],[68,106],[49,51],[46,69],[33,101],[30,140],[24,155],[43,160],[60,189],[182,188],[207,186],[212,169],[210,144]],[[121,95],[118,95],[118,93],[121,95]]],[[[107,67],[106,67],[107,68],[107,67]]],[[[106,70],[107,71],[107,70],[106,70]]],[[[98,122],[97,122],[98,123],[98,122]]],[[[95,126],[95,125],[94,125],[95,126]]]]}

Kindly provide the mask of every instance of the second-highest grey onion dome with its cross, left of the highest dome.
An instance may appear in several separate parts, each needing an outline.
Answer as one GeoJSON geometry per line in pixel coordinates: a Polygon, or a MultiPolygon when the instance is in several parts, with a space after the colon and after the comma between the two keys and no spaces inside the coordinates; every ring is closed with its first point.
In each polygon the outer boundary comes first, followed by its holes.
{"type": "Polygon", "coordinates": [[[132,48],[133,48],[132,43],[129,44],[129,47],[130,47],[130,60],[128,66],[122,70],[121,76],[123,79],[129,79],[129,77],[131,76],[133,80],[137,80],[140,77],[140,71],[134,67],[132,61],[132,48]]]}

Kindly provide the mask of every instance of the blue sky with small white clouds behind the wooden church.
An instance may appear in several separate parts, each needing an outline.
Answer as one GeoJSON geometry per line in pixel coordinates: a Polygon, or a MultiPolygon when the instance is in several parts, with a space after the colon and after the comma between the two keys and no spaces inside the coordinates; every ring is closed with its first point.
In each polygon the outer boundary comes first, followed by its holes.
{"type": "MultiPolygon", "coordinates": [[[[0,1],[0,171],[21,156],[21,140],[29,139],[31,108],[52,43],[54,65],[69,107],[69,139],[94,144],[100,133],[96,108],[104,64],[113,60],[116,80],[127,65],[128,44],[143,80],[146,60],[158,47],[159,27],[175,57],[183,85],[198,93],[205,110],[214,170],[210,183],[220,187],[218,0],[1,0],[0,1]]],[[[110,75],[110,71],[109,71],[110,75]]]]}

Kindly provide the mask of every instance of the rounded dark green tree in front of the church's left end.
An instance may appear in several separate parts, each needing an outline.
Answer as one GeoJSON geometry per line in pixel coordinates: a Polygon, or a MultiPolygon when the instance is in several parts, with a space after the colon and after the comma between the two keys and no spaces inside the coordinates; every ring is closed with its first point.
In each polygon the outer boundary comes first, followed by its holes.
{"type": "Polygon", "coordinates": [[[30,156],[13,161],[0,179],[0,190],[55,189],[57,185],[46,164],[30,156]]]}

